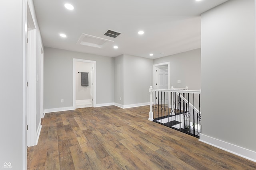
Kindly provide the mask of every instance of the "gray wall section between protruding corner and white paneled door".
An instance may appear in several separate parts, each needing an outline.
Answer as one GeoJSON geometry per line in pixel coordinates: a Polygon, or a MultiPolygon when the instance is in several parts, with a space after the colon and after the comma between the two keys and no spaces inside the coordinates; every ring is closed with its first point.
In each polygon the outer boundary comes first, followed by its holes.
{"type": "Polygon", "coordinates": [[[153,60],[124,55],[124,105],[150,102],[152,84],[153,60]]]}

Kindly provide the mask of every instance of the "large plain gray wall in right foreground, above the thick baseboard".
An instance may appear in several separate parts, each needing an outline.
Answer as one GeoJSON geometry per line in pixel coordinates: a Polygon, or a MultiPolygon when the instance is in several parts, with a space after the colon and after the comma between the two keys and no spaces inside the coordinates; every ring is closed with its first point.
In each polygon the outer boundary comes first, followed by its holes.
{"type": "Polygon", "coordinates": [[[254,0],[202,14],[202,133],[256,151],[254,0]]]}

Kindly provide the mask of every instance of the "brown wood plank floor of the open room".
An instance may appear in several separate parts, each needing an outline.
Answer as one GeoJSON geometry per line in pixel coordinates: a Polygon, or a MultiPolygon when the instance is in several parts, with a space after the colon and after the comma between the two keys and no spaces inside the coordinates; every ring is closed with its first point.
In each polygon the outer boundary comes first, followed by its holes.
{"type": "Polygon", "coordinates": [[[148,121],[149,106],[46,113],[28,170],[255,170],[256,163],[148,121]]]}

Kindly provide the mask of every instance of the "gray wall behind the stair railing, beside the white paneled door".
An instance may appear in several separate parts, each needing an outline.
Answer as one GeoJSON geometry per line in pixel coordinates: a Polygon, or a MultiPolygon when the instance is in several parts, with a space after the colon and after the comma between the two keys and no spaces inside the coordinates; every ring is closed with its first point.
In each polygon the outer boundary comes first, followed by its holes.
{"type": "Polygon", "coordinates": [[[188,86],[189,90],[201,89],[201,49],[178,53],[159,59],[154,64],[170,62],[170,84],[174,88],[188,86]],[[181,80],[181,83],[177,83],[181,80]]]}

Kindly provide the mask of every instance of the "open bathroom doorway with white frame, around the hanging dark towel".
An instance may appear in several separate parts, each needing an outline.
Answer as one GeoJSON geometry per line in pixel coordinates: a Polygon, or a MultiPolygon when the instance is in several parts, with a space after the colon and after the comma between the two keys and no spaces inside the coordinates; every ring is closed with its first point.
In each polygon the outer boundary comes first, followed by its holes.
{"type": "Polygon", "coordinates": [[[96,61],[73,60],[73,107],[94,107],[96,104],[96,61]],[[82,72],[88,73],[88,86],[81,85],[82,72]]]}

